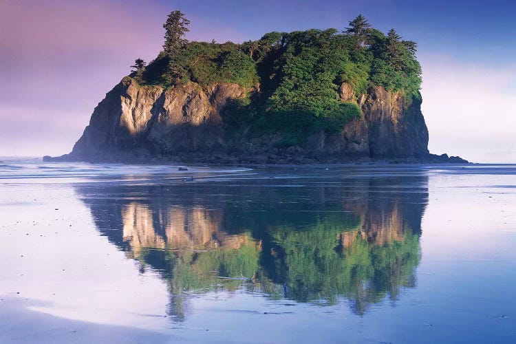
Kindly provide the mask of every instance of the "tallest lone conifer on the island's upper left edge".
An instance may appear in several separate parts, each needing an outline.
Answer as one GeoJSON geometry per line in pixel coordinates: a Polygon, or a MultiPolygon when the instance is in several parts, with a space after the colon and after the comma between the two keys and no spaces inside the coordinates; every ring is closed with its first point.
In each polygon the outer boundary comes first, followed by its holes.
{"type": "Polygon", "coordinates": [[[188,43],[188,40],[184,38],[184,34],[190,31],[187,28],[189,24],[190,21],[184,17],[184,13],[180,10],[170,12],[166,23],[163,24],[165,29],[163,50],[171,58],[177,56],[182,47],[188,43]]]}

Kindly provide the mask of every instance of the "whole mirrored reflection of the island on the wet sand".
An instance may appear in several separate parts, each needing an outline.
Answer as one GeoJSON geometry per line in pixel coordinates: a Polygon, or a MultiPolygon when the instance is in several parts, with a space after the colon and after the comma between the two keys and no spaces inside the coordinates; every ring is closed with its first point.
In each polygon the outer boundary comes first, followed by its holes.
{"type": "Polygon", "coordinates": [[[318,304],[344,297],[363,314],[415,286],[425,177],[238,183],[77,191],[103,235],[142,270],[161,272],[176,320],[189,309],[185,292],[245,286],[318,304]]]}

